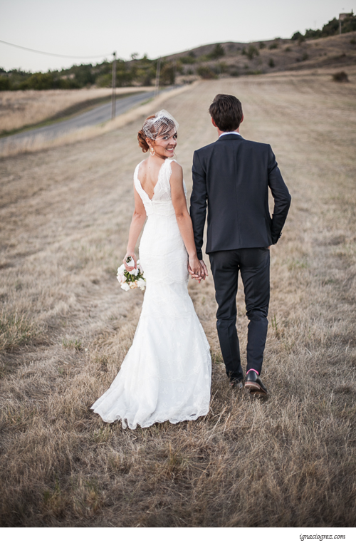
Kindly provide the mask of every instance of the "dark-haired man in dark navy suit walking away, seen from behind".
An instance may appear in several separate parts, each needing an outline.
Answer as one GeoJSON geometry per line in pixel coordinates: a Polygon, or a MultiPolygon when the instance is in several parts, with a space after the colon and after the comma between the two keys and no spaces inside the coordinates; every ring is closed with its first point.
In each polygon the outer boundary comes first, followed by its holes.
{"type": "Polygon", "coordinates": [[[211,122],[219,135],[211,145],[194,152],[190,215],[198,258],[208,210],[206,253],[209,254],[218,304],[216,327],[231,386],[244,380],[236,331],[236,293],[239,272],[244,284],[248,323],[245,387],[266,396],[261,381],[268,326],[269,267],[272,244],[281,237],[290,194],[270,145],[245,140],[239,133],[244,120],[239,99],[216,95],[210,105],[211,122]],[[274,199],[268,211],[268,187],[274,199]]]}

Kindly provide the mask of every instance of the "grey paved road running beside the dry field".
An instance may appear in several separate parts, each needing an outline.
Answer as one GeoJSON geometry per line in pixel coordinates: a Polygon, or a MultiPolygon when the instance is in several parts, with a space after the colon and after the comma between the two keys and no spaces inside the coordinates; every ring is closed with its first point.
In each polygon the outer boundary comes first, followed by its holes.
{"type": "MultiPolygon", "coordinates": [[[[116,100],[116,115],[122,114],[130,110],[135,105],[139,105],[143,101],[152,98],[155,95],[155,91],[145,91],[143,93],[135,93],[130,97],[124,99],[117,98],[116,100]]],[[[110,120],[111,118],[111,103],[105,103],[98,107],[92,108],[83,114],[74,116],[69,120],[63,120],[62,122],[56,122],[51,125],[46,125],[43,128],[37,128],[35,130],[23,131],[23,133],[17,133],[16,135],[10,135],[9,137],[0,138],[0,150],[6,143],[20,143],[21,140],[28,141],[28,138],[37,138],[38,136],[46,138],[46,140],[52,140],[60,135],[71,133],[74,130],[88,127],[90,125],[96,125],[110,120]]]]}

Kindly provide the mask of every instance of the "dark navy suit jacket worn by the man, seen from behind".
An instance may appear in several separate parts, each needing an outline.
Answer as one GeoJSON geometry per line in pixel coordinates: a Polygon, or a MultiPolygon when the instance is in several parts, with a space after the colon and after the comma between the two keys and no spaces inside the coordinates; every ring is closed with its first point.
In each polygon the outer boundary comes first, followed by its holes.
{"type": "Polygon", "coordinates": [[[206,208],[206,253],[276,244],[291,198],[270,145],[238,133],[221,135],[194,152],[192,172],[190,215],[199,259],[206,208]],[[268,188],[274,199],[272,217],[268,188]]]}

